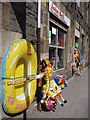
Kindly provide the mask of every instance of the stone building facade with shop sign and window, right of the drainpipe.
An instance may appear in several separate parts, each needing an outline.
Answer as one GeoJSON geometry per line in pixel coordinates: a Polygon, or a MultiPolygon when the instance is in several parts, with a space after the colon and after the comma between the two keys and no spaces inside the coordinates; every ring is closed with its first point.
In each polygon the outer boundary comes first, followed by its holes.
{"type": "Polygon", "coordinates": [[[49,1],[42,6],[41,59],[47,56],[50,60],[53,76],[63,72],[68,77],[72,75],[76,42],[84,58],[84,67],[88,65],[88,4],[49,1]]]}

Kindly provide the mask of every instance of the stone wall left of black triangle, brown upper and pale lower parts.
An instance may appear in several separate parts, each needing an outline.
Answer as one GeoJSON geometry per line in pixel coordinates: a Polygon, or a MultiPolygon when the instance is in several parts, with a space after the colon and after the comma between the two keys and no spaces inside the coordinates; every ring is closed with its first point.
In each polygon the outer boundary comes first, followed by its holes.
{"type": "Polygon", "coordinates": [[[19,24],[16,21],[16,16],[12,13],[12,7],[10,3],[0,3],[1,13],[1,28],[0,28],[0,66],[4,53],[12,42],[17,37],[21,37],[21,31],[19,24]]]}

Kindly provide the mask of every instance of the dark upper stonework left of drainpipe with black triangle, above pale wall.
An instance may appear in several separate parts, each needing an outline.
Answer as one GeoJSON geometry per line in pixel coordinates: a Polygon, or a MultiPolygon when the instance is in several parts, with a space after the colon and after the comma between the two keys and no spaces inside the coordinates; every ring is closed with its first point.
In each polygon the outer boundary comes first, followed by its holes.
{"type": "Polygon", "coordinates": [[[26,34],[28,41],[36,40],[37,11],[37,2],[26,2],[26,5],[24,3],[3,3],[2,28],[26,34]]]}

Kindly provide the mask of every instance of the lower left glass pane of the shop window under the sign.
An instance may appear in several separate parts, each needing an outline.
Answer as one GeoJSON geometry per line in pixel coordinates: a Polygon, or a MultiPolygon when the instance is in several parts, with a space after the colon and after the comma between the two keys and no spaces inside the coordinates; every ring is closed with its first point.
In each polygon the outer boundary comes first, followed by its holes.
{"type": "Polygon", "coordinates": [[[55,70],[55,48],[49,48],[49,60],[52,65],[53,70],[55,70]]]}

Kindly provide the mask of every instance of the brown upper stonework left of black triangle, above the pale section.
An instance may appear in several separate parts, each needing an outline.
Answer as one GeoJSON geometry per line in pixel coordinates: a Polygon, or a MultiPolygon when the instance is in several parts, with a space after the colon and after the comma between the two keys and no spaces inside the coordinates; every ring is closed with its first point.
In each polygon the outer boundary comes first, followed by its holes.
{"type": "Polygon", "coordinates": [[[9,2],[2,3],[2,28],[8,31],[21,32],[15,12],[9,2]]]}

